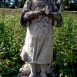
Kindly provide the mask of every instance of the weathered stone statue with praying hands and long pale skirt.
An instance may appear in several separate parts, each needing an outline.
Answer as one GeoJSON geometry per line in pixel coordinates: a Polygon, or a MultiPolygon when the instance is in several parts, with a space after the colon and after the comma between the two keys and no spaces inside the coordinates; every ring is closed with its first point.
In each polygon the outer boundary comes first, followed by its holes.
{"type": "Polygon", "coordinates": [[[53,0],[26,0],[20,22],[27,27],[20,56],[30,65],[29,77],[37,77],[38,70],[40,77],[47,77],[53,60],[53,26],[61,26],[61,14],[53,0]]]}

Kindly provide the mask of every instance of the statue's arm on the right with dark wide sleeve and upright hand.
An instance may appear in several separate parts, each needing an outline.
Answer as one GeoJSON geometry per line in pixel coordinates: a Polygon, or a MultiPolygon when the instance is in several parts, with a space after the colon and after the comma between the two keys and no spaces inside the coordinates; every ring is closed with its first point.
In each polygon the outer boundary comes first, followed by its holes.
{"type": "Polygon", "coordinates": [[[55,5],[53,11],[51,11],[48,5],[46,5],[44,12],[45,15],[48,16],[53,21],[53,25],[57,27],[60,27],[62,25],[63,20],[62,20],[61,13],[58,11],[55,5]]]}

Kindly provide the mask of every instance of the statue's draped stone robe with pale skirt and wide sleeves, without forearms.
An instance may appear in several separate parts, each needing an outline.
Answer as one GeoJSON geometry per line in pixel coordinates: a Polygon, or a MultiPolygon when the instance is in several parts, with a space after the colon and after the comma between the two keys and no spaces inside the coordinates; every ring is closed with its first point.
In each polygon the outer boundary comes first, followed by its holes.
{"type": "MultiPolygon", "coordinates": [[[[37,6],[45,5],[46,0],[27,0],[22,14],[30,10],[35,10],[37,6]]],[[[52,0],[49,6],[50,12],[55,12],[53,15],[61,17],[60,12],[52,0]]],[[[42,8],[42,7],[41,7],[42,8]]],[[[21,25],[27,25],[25,43],[20,54],[22,60],[28,63],[49,64],[53,59],[53,26],[59,26],[62,23],[62,18],[58,22],[52,20],[46,15],[39,15],[37,19],[26,23],[24,15],[21,16],[21,25]]]]}

